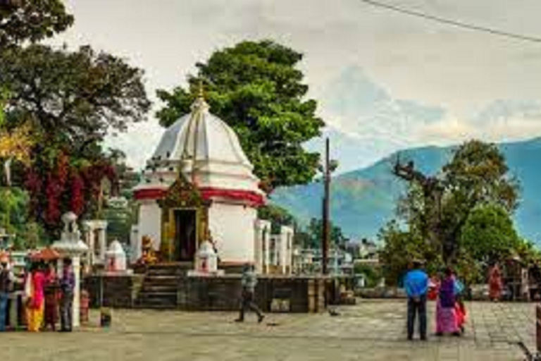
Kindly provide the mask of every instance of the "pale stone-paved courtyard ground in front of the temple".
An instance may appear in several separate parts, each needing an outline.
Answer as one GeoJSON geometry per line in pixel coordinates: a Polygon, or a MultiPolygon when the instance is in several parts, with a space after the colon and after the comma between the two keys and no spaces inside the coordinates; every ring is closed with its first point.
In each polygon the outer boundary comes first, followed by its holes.
{"type": "MultiPolygon", "coordinates": [[[[433,330],[433,304],[429,322],[433,330]]],[[[257,324],[237,314],[114,310],[111,329],[91,325],[73,334],[0,334],[1,360],[523,360],[516,341],[533,348],[534,305],[466,305],[462,338],[404,341],[404,302],[370,300],[339,315],[268,314],[257,324]]]]}

